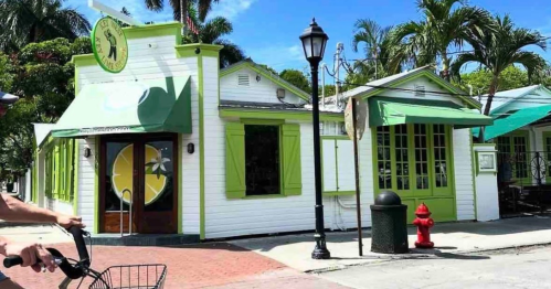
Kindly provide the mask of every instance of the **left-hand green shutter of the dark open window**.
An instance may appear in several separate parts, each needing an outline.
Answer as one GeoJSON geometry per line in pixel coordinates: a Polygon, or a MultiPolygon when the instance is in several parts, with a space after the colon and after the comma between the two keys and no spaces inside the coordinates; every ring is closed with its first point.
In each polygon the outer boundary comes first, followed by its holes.
{"type": "Polygon", "coordinates": [[[229,122],[225,127],[225,194],[245,197],[245,126],[229,122]]]}

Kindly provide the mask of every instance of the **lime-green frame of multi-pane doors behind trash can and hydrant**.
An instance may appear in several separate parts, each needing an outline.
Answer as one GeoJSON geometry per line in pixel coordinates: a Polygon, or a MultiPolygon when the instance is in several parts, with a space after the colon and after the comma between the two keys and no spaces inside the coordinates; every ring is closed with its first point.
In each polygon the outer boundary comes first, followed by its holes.
{"type": "MultiPolygon", "coordinates": [[[[403,200],[411,200],[415,204],[420,202],[420,200],[437,200],[437,199],[443,199],[443,200],[455,200],[455,183],[454,183],[454,162],[453,162],[453,128],[451,126],[444,126],[444,130],[438,130],[436,136],[444,136],[445,139],[445,148],[442,147],[442,144],[438,142],[438,147],[441,149],[441,152],[444,151],[443,158],[438,158],[441,162],[438,162],[441,165],[445,164],[445,178],[447,178],[447,182],[445,186],[437,186],[436,182],[436,151],[435,151],[435,126],[441,126],[441,125],[423,125],[425,126],[425,132],[422,132],[421,130],[415,131],[415,125],[405,125],[406,126],[406,131],[404,132],[403,130],[400,130],[398,126],[390,126],[390,127],[380,127],[382,131],[385,131],[383,133],[386,133],[388,137],[382,139],[383,143],[388,143],[386,146],[383,147],[388,149],[386,152],[390,152],[389,159],[383,159],[379,160],[379,144],[378,144],[378,133],[381,133],[381,131],[378,131],[377,128],[372,129],[372,148],[373,148],[373,185],[374,185],[374,194],[379,194],[381,191],[384,190],[392,190],[396,192],[403,200]],[[396,133],[396,131],[399,133],[396,133]],[[417,165],[422,165],[417,160],[417,157],[422,152],[416,152],[415,150],[415,135],[417,135],[417,142],[422,141],[422,139],[425,139],[426,141],[426,149],[423,149],[426,151],[426,160],[423,159],[422,163],[427,163],[427,172],[425,173],[423,171],[423,175],[426,175],[428,178],[428,189],[420,190],[417,188],[417,179],[416,178],[416,169],[417,165]],[[403,146],[403,141],[407,139],[407,146],[403,146]],[[398,143],[400,142],[400,143],[398,143]],[[400,144],[401,147],[396,147],[396,144],[400,144]],[[402,150],[401,152],[403,153],[403,158],[406,158],[406,160],[400,160],[398,161],[398,151],[402,150]],[[405,151],[404,151],[405,150],[405,151]],[[383,162],[383,168],[389,168],[390,167],[390,173],[386,173],[385,169],[385,175],[390,178],[390,186],[389,188],[380,188],[379,183],[379,162],[383,162]],[[386,164],[389,162],[390,164],[386,164]],[[406,174],[401,174],[401,178],[409,178],[407,183],[409,188],[407,189],[402,189],[399,190],[399,182],[398,182],[398,167],[399,164],[406,164],[407,165],[407,173],[406,174]]],[[[402,126],[402,128],[404,128],[402,126]]],[[[439,127],[437,129],[441,129],[439,127]]],[[[383,151],[383,156],[386,153],[383,151]]],[[[401,170],[403,171],[405,167],[403,167],[401,170]]],[[[424,170],[424,169],[423,169],[424,170]]],[[[389,184],[389,181],[385,182],[385,184],[389,184]]],[[[418,205],[418,204],[417,204],[418,205]]],[[[454,205],[455,207],[455,205],[454,205]]],[[[431,208],[432,210],[432,208],[431,208]]],[[[410,210],[409,210],[410,211],[410,210]]],[[[414,208],[413,208],[414,211],[414,208]]],[[[454,213],[456,214],[456,212],[454,213]]],[[[447,218],[446,218],[447,220],[447,218]]]]}

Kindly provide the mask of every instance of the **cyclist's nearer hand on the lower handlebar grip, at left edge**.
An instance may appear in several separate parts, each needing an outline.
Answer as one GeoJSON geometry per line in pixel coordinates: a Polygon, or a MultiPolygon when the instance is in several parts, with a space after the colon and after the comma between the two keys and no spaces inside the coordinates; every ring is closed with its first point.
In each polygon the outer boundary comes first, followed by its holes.
{"type": "Polygon", "coordinates": [[[40,260],[44,266],[53,272],[55,270],[55,263],[52,255],[41,244],[24,244],[2,239],[0,244],[0,254],[6,257],[20,256],[23,259],[21,267],[29,267],[40,272],[41,266],[38,264],[40,260]]]}

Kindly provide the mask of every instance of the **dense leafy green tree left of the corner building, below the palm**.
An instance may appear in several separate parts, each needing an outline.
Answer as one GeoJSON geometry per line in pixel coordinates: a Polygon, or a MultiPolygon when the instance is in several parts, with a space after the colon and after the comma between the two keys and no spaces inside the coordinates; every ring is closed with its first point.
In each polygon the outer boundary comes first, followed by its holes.
{"type": "Polygon", "coordinates": [[[32,124],[55,122],[61,117],[74,99],[71,58],[91,52],[91,41],[85,38],[72,43],[66,39],[31,43],[12,60],[0,55],[0,83],[8,84],[0,85],[21,97],[0,118],[0,168],[14,174],[29,168],[34,143],[32,124]]]}

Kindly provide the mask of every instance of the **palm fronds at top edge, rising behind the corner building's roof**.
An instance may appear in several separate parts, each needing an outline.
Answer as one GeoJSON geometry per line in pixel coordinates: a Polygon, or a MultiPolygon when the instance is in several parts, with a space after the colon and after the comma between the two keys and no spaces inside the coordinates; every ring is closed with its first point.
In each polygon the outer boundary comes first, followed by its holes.
{"type": "MultiPolygon", "coordinates": [[[[161,11],[165,8],[163,0],[145,0],[146,7],[152,11],[161,11]]],[[[174,20],[186,23],[186,15],[191,4],[198,6],[199,20],[204,21],[206,14],[211,11],[212,4],[218,3],[219,0],[169,0],[172,7],[174,20]]]]}

